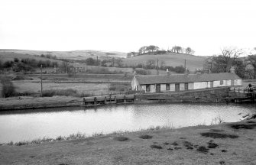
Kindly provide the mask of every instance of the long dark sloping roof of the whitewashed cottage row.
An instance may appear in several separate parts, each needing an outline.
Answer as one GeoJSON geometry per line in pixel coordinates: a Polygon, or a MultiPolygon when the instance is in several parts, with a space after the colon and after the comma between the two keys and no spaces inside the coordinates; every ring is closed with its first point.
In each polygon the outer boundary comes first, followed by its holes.
{"type": "Polygon", "coordinates": [[[139,84],[175,83],[175,82],[206,82],[215,80],[241,79],[234,73],[211,74],[177,74],[177,75],[151,75],[135,76],[139,84]]]}

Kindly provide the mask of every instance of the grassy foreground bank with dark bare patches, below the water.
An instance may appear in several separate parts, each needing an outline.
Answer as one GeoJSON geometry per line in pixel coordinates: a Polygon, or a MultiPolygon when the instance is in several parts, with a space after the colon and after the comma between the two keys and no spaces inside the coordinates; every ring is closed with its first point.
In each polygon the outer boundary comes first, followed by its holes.
{"type": "Polygon", "coordinates": [[[256,120],[251,120],[46,144],[2,145],[0,162],[57,165],[256,164],[255,133],[256,120]]]}

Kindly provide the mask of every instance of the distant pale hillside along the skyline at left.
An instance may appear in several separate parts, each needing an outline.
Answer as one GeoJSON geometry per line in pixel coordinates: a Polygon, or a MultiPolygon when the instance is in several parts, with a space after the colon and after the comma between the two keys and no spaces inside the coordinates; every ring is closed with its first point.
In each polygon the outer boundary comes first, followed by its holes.
{"type": "Polygon", "coordinates": [[[108,59],[112,57],[125,58],[126,53],[117,51],[100,51],[100,50],[73,50],[73,51],[43,51],[43,50],[15,50],[15,49],[0,49],[2,53],[18,53],[24,55],[41,56],[41,54],[56,56],[59,59],[70,60],[86,60],[89,57],[99,59],[108,59]]]}

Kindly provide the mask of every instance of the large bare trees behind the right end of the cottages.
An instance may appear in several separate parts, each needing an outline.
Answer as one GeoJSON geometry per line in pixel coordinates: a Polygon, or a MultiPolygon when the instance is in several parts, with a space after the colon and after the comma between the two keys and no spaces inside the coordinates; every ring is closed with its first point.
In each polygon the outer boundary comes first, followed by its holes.
{"type": "Polygon", "coordinates": [[[242,79],[256,79],[256,47],[248,54],[238,48],[225,47],[205,60],[204,72],[226,73],[232,66],[242,79]]]}

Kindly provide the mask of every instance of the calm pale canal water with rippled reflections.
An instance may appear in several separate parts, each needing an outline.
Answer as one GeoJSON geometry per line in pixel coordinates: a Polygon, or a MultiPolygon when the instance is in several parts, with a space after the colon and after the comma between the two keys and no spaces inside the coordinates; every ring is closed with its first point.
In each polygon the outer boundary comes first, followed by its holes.
{"type": "Polygon", "coordinates": [[[56,138],[78,132],[89,136],[163,125],[174,128],[210,125],[215,123],[214,118],[240,121],[242,115],[256,112],[255,109],[255,105],[151,103],[0,112],[0,143],[56,138]]]}

